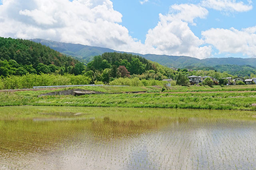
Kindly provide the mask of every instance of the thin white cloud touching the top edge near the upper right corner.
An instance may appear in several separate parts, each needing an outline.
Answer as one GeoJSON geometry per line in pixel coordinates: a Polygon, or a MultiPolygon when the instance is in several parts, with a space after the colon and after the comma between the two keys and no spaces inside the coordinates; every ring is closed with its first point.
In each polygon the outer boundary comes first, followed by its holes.
{"type": "Polygon", "coordinates": [[[201,5],[226,12],[246,12],[252,10],[252,1],[248,1],[248,4],[244,4],[244,2],[236,2],[236,0],[203,0],[201,5]]]}

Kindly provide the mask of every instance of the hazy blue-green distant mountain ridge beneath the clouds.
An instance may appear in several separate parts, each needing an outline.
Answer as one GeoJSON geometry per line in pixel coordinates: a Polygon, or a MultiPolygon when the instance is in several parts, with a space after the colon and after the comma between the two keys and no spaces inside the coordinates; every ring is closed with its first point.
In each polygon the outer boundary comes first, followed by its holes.
{"type": "MultiPolygon", "coordinates": [[[[60,53],[66,55],[71,55],[87,62],[92,61],[92,58],[96,55],[101,55],[106,52],[118,52],[118,53],[130,53],[123,51],[115,51],[113,49],[102,48],[102,47],[92,47],[82,44],[72,44],[72,43],[61,43],[56,41],[44,40],[44,39],[31,39],[36,43],[41,43],[46,45],[60,53]]],[[[185,68],[185,67],[200,67],[200,66],[216,66],[222,64],[234,64],[234,65],[250,65],[256,67],[256,58],[208,58],[208,59],[197,59],[188,56],[169,56],[169,55],[154,55],[154,54],[138,54],[130,53],[133,55],[139,55],[145,59],[157,62],[167,67],[185,68]]]]}

